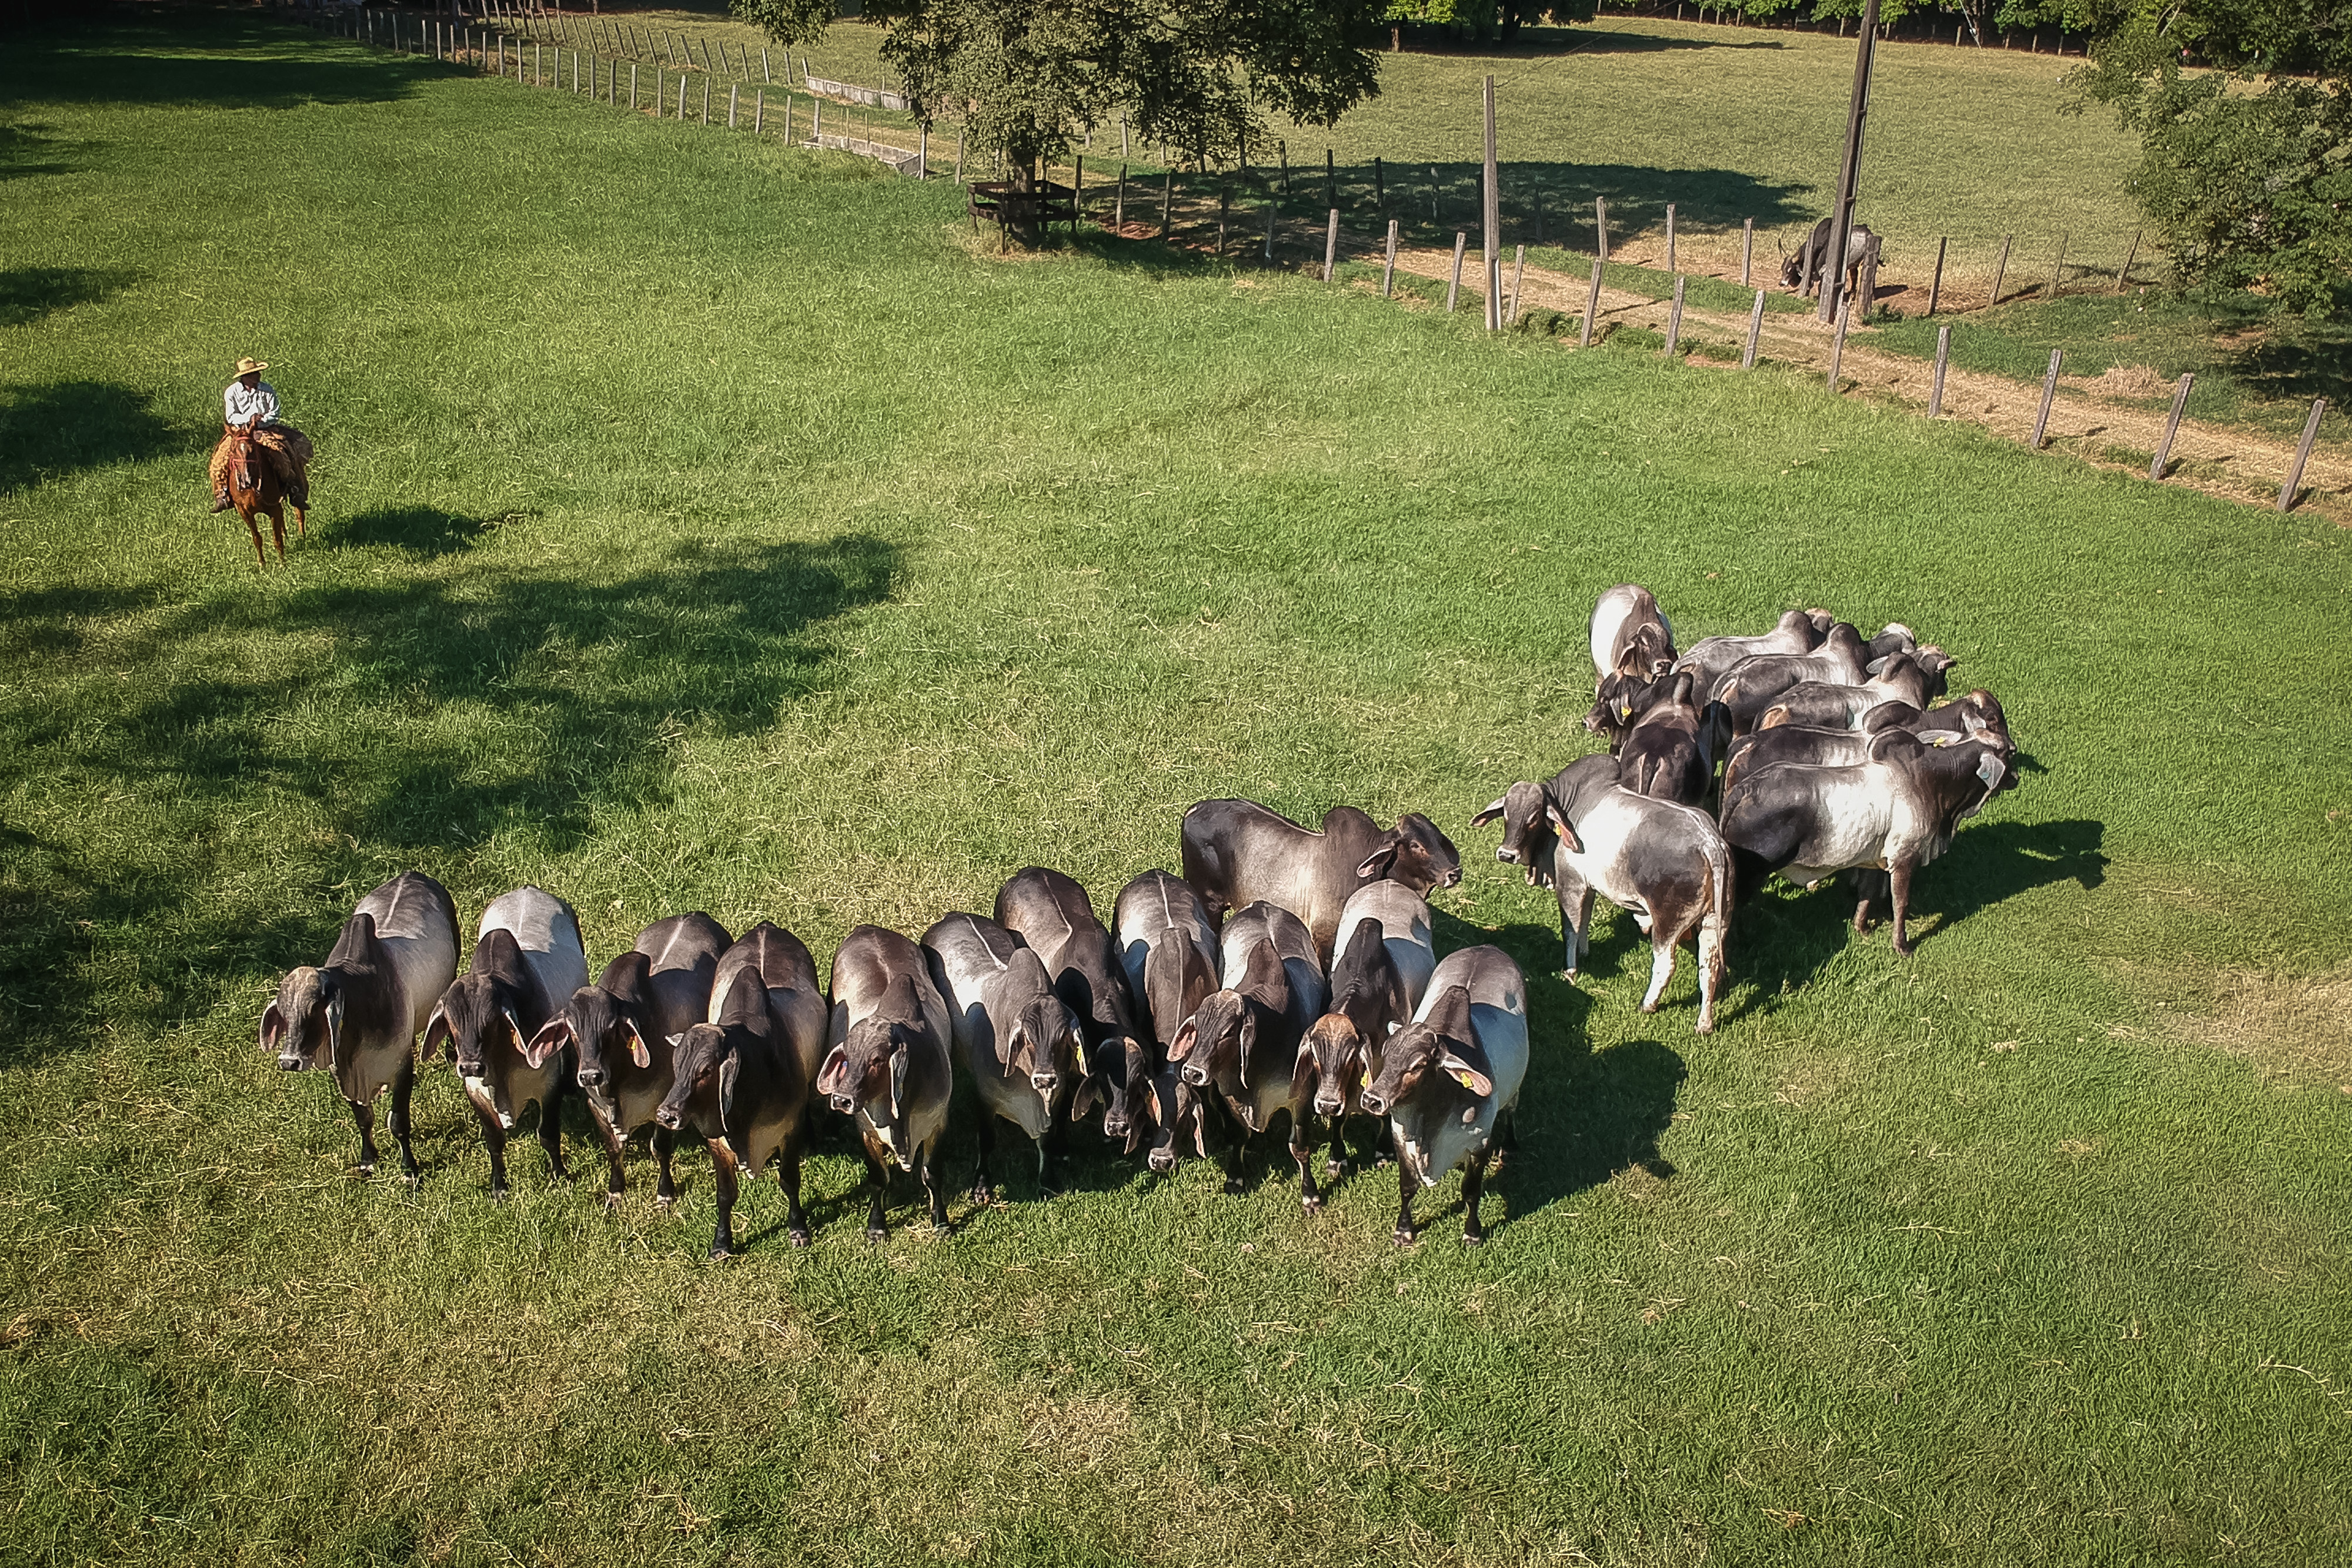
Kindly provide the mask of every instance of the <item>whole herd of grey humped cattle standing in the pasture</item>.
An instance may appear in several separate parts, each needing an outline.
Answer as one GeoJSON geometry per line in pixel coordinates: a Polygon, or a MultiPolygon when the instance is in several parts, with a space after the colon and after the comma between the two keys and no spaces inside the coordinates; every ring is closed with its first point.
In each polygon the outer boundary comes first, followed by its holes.
{"type": "MultiPolygon", "coordinates": [[[[1910,952],[1912,875],[2013,785],[2002,705],[1987,691],[1936,705],[1955,661],[1903,625],[1865,642],[1828,611],[1790,611],[1759,637],[1677,654],[1651,592],[1618,585],[1592,611],[1592,665],[1585,726],[1609,755],[1512,783],[1470,820],[1501,820],[1496,858],[1559,893],[1571,980],[1595,893],[1649,933],[1644,1013],[1693,940],[1700,1034],[1715,1027],[1733,907],[1766,877],[1849,872],[1856,929],[1889,898],[1896,952],[1910,952]]],[[[536,886],[482,910],[461,976],[456,905],[402,872],[360,900],[322,966],[280,983],[261,1046],[287,1072],[336,1074],[362,1171],[388,1088],[416,1180],[409,1093],[416,1063],[442,1048],[480,1117],[494,1197],[532,1105],[564,1175],[572,1091],[604,1143],[607,1206],[626,1192],[633,1133],[652,1131],[661,1204],[677,1192],[677,1135],[696,1135],[715,1171],[715,1258],[734,1251],[739,1182],[769,1161],[788,1234],[809,1241],[800,1164],[821,1119],[844,1121],[863,1150],[868,1237],[884,1234],[894,1166],[920,1178],[946,1227],[938,1161],[957,1077],[976,1100],[976,1204],[995,1201],[997,1121],[1035,1145],[1042,1190],[1068,1128],[1096,1112],[1103,1135],[1157,1173],[1185,1143],[1207,1157],[1223,1126],[1232,1192],[1251,1140],[1289,1112],[1312,1211],[1317,1124],[1331,1180],[1350,1117],[1364,1117],[1362,1152],[1397,1164],[1397,1241],[1414,1239],[1414,1194],[1454,1166],[1463,1239],[1484,1239],[1479,1187],[1496,1138],[1512,1140],[1529,1065],[1526,980],[1498,947],[1437,954],[1428,893],[1461,882],[1446,835],[1418,813],[1381,827],[1336,806],[1308,830],[1209,799],[1183,816],[1181,865],[1120,889],[1108,929],[1077,882],[1028,867],[988,919],[948,914],[920,940],[856,926],[830,985],[790,931],[762,922],[729,938],[701,912],[654,922],[590,983],[579,917],[536,886]]]]}

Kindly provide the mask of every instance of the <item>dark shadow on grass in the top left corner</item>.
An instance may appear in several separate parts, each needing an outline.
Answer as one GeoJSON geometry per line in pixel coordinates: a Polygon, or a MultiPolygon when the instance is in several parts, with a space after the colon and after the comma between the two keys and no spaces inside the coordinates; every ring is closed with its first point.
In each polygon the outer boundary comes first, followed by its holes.
{"type": "MultiPolygon", "coordinates": [[[[414,16],[407,26],[416,26],[414,16]]],[[[348,40],[334,47],[259,14],[169,7],[136,21],[71,19],[16,33],[0,52],[0,99],[143,108],[388,103],[442,71],[454,66],[348,40]]]]}

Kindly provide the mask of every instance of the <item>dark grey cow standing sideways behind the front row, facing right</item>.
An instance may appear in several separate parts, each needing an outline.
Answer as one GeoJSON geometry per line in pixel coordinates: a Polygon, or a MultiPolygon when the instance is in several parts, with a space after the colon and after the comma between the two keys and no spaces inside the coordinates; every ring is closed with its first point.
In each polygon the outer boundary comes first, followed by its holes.
{"type": "Polygon", "coordinates": [[[1308,924],[1317,961],[1331,959],[1348,896],[1378,877],[1428,893],[1461,882],[1463,858],[1418,811],[1381,827],[1355,806],[1334,806],[1322,832],[1251,799],[1204,799],[1183,813],[1183,879],[1209,919],[1263,898],[1308,924]]]}

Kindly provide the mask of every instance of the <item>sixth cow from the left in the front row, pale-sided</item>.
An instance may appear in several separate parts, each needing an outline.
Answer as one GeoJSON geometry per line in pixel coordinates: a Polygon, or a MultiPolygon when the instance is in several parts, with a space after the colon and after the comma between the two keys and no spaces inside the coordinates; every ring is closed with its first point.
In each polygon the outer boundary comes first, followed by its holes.
{"type": "Polygon", "coordinates": [[[988,1154],[1000,1117],[1037,1145],[1037,1190],[1054,1192],[1058,1140],[1049,1133],[1087,1072],[1077,1018],[1054,994],[1054,978],[1035,950],[993,919],[948,914],[922,933],[922,950],[931,954],[931,980],[948,999],[955,1051],[981,1098],[971,1201],[985,1208],[997,1197],[988,1154]]]}

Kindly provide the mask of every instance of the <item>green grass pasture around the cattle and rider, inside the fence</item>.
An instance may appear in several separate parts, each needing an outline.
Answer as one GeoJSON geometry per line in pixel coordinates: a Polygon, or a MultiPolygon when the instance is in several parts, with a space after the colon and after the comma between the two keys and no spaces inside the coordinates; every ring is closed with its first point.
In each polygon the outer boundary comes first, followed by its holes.
{"type": "MultiPolygon", "coordinates": [[[[2343,1324],[2336,529],[1564,355],[1157,244],[1000,263],[953,186],[228,14],[0,49],[0,1554],[40,1563],[2319,1563],[2343,1324]],[[240,353],[320,447],[205,515],[240,353]],[[1712,1039],[1468,816],[1583,752],[1592,595],[1903,618],[2023,788],[1743,914],[1712,1039]],[[1522,1150],[1305,1220],[1098,1152],[710,1267],[536,1152],[350,1175],[254,1044],[393,870],[593,961],[1108,898],[1207,795],[1432,811],[1526,964],[1522,1150]]],[[[583,1171],[597,1161],[574,1128],[583,1171]]],[[[1091,1133],[1087,1135],[1091,1143],[1091,1133]]],[[[957,1124],[950,1166],[969,1171],[957,1124]]],[[[901,1187],[901,1199],[906,1187],[901,1187]]]]}

